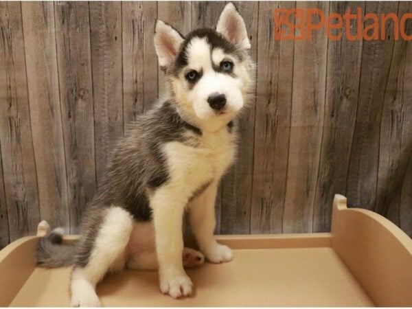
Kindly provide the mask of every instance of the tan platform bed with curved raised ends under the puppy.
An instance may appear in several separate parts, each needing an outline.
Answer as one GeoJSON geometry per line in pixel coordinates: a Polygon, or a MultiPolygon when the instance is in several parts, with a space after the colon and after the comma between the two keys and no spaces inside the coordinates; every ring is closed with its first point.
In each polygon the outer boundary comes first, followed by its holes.
{"type": "MultiPolygon", "coordinates": [[[[70,268],[37,268],[40,236],[0,251],[0,306],[69,306],[70,268]]],[[[67,236],[67,241],[75,238],[67,236]]],[[[195,293],[162,295],[157,272],[106,276],[102,306],[412,306],[412,240],[336,195],[331,233],[219,236],[234,260],[190,269],[195,293]]]]}

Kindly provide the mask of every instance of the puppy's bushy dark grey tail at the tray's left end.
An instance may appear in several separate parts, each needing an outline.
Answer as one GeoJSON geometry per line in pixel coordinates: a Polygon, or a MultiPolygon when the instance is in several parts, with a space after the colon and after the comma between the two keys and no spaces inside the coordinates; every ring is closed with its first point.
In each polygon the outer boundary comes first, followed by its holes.
{"type": "Polygon", "coordinates": [[[64,231],[54,229],[40,239],[36,251],[39,266],[57,268],[73,264],[75,244],[62,244],[64,231]]]}

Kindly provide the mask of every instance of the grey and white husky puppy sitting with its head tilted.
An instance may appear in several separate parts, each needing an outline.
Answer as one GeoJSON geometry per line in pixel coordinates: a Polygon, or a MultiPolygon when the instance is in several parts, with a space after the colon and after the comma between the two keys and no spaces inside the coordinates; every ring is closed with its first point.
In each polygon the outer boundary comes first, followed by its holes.
{"type": "Polygon", "coordinates": [[[192,293],[184,266],[229,262],[229,247],[214,240],[218,183],[236,156],[236,116],[253,91],[254,65],[242,16],[233,3],[216,30],[183,37],[157,21],[155,48],[168,93],[130,126],[115,147],[87,207],[82,236],[62,244],[56,229],[41,239],[37,261],[73,265],[71,306],[99,306],[95,286],[124,266],[159,269],[162,293],[192,293]],[[183,247],[189,212],[201,252],[183,247]]]}

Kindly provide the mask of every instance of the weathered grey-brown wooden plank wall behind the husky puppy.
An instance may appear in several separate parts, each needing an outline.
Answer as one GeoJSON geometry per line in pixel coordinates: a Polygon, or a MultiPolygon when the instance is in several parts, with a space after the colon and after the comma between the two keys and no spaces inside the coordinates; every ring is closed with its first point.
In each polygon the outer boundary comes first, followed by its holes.
{"type": "MultiPolygon", "coordinates": [[[[411,41],[396,41],[391,22],[385,41],[332,41],[324,30],[312,41],[273,39],[275,8],[402,15],[412,2],[236,5],[256,90],[218,194],[216,231],[328,231],[341,193],[412,236],[411,41]]],[[[224,6],[0,2],[0,247],[41,219],[78,231],[113,144],[165,89],[155,20],[185,34],[216,25],[224,6]]]]}

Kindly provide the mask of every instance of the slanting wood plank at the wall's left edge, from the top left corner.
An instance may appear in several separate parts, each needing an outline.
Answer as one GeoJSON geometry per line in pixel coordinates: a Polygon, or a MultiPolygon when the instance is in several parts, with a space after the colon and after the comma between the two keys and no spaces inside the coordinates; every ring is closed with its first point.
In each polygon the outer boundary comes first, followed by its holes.
{"type": "Polygon", "coordinates": [[[10,240],[40,219],[19,2],[0,3],[0,140],[10,240]]]}

